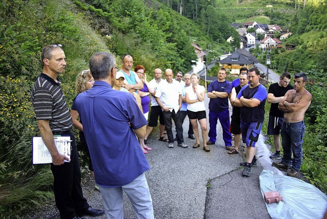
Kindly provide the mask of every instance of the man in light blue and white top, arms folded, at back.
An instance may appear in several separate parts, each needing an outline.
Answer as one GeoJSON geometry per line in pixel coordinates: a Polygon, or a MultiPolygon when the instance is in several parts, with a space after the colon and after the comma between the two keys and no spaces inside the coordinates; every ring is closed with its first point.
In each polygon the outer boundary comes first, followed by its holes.
{"type": "Polygon", "coordinates": [[[122,69],[119,71],[123,72],[125,76],[124,88],[131,93],[143,88],[143,82],[134,71],[131,71],[132,66],[133,58],[128,54],[124,55],[122,58],[122,69]]]}

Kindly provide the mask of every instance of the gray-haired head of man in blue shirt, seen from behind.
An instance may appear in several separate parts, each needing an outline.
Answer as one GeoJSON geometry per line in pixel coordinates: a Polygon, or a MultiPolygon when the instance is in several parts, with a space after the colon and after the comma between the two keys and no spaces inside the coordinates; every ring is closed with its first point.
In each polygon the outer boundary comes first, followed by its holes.
{"type": "Polygon", "coordinates": [[[116,65],[114,56],[110,53],[96,53],[90,58],[90,71],[95,80],[107,79],[116,65]]]}

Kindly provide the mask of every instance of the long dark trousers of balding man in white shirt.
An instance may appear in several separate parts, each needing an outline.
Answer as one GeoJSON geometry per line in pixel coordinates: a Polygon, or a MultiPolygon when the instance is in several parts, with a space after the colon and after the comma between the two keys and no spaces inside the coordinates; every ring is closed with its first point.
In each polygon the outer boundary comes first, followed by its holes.
{"type": "Polygon", "coordinates": [[[174,136],[173,136],[173,131],[172,131],[172,126],[173,126],[173,121],[176,126],[176,138],[177,138],[177,143],[181,144],[184,142],[183,138],[183,126],[181,123],[181,115],[180,115],[180,110],[178,110],[177,113],[175,113],[175,110],[165,112],[163,111],[162,114],[164,114],[164,119],[165,119],[165,126],[166,126],[166,131],[167,131],[167,136],[169,143],[174,143],[174,136]]]}

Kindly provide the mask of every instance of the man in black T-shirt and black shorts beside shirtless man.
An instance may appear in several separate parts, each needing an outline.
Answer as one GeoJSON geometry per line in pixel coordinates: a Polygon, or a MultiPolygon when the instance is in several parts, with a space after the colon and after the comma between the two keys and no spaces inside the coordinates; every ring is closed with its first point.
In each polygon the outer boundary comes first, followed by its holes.
{"type": "Polygon", "coordinates": [[[284,122],[284,112],[278,109],[278,103],[284,98],[288,90],[292,90],[290,85],[291,75],[289,72],[283,72],[279,77],[279,82],[271,84],[268,88],[267,101],[271,103],[268,121],[268,135],[274,136],[274,145],[276,152],[270,156],[271,159],[281,158],[281,139],[279,139],[279,132],[281,131],[284,122]]]}

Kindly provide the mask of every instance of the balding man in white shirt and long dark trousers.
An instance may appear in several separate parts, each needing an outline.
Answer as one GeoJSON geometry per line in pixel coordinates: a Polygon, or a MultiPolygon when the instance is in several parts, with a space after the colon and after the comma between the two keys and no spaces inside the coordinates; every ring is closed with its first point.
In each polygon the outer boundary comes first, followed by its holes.
{"type": "Polygon", "coordinates": [[[179,83],[176,80],[173,80],[173,75],[172,69],[166,69],[166,80],[159,85],[155,93],[155,100],[161,107],[162,114],[164,115],[167,136],[169,139],[168,147],[174,148],[174,136],[172,132],[173,119],[177,132],[177,145],[182,148],[187,148],[188,145],[184,143],[183,139],[183,128],[179,111],[182,106],[182,90],[179,83]]]}

